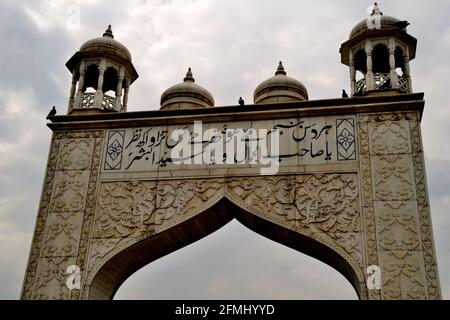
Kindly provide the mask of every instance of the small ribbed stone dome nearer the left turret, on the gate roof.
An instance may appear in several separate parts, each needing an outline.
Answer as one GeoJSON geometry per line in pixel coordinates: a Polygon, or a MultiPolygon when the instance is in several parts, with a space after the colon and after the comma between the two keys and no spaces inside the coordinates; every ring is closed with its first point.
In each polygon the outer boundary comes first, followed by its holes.
{"type": "Polygon", "coordinates": [[[191,68],[183,82],[176,84],[161,95],[161,109],[193,109],[214,106],[214,98],[205,88],[195,83],[191,68]]]}

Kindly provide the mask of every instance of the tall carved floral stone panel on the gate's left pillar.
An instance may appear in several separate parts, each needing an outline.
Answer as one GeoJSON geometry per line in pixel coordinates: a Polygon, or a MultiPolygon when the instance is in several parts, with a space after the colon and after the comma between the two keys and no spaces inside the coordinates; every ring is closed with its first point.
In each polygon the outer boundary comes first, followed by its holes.
{"type": "MultiPolygon", "coordinates": [[[[25,299],[71,299],[66,286],[70,265],[81,266],[83,234],[89,234],[85,210],[95,199],[102,138],[98,131],[55,133],[33,239],[25,299]]],[[[78,290],[79,291],[79,290],[78,290]]]]}

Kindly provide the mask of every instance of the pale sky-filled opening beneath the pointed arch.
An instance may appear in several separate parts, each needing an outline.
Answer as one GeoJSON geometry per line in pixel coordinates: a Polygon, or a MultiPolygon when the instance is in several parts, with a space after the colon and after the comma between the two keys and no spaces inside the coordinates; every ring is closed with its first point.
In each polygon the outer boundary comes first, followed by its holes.
{"type": "Polygon", "coordinates": [[[114,300],[357,300],[332,267],[233,219],[131,275],[114,300]]]}

